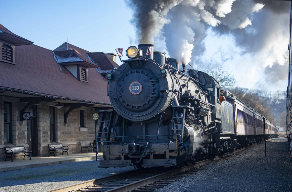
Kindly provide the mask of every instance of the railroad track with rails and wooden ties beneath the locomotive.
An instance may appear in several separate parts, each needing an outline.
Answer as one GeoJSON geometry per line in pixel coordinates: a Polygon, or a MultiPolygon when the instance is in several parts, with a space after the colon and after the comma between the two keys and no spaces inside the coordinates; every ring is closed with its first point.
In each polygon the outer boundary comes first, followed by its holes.
{"type": "Polygon", "coordinates": [[[185,176],[201,171],[203,168],[200,165],[214,161],[216,159],[221,159],[228,155],[245,150],[249,147],[251,146],[243,147],[241,149],[237,149],[233,152],[225,153],[211,159],[205,159],[182,168],[161,168],[159,170],[150,168],[132,170],[113,176],[92,179],[86,182],[81,182],[78,184],[60,187],[44,192],[151,192],[185,176]]]}

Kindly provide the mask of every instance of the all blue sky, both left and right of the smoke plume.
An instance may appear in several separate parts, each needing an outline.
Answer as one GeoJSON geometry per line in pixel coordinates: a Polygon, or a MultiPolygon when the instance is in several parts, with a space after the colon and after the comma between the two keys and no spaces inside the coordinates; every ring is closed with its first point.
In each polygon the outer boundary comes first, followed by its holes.
{"type": "MultiPolygon", "coordinates": [[[[123,0],[0,0],[0,7],[2,25],[47,49],[55,49],[66,41],[66,37],[68,43],[90,52],[116,53],[115,48],[122,47],[125,50],[137,44],[135,28],[131,25],[132,10],[126,7],[123,0]]],[[[286,39],[283,42],[286,50],[288,40],[287,43],[286,39]]],[[[258,56],[242,54],[244,50],[236,46],[232,35],[218,36],[210,28],[204,43],[206,52],[202,59],[224,61],[227,70],[236,76],[236,86],[263,88],[262,85],[266,84],[255,83],[263,79],[264,66],[260,60],[254,59],[258,56]]],[[[167,53],[165,47],[159,51],[167,53]]],[[[123,58],[126,59],[126,56],[123,58]]],[[[120,64],[118,58],[117,62],[120,64]]],[[[282,80],[264,89],[284,91],[286,87],[286,80],[282,80]]]]}

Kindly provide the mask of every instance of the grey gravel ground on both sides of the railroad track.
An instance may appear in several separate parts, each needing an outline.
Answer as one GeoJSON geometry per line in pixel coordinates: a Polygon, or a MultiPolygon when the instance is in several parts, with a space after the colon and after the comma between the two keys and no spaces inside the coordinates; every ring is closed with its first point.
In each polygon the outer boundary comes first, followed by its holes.
{"type": "MultiPolygon", "coordinates": [[[[155,192],[292,191],[292,158],[287,139],[276,138],[230,157],[212,161],[203,170],[155,192]]],[[[46,191],[133,170],[97,168],[95,160],[0,172],[1,191],[46,191]]]]}

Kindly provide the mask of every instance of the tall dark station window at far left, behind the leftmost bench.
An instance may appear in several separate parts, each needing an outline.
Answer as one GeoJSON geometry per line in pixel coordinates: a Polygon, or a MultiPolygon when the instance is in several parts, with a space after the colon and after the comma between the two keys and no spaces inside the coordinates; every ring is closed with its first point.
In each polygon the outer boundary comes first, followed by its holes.
{"type": "Polygon", "coordinates": [[[12,103],[4,102],[4,143],[12,143],[12,103]]]}

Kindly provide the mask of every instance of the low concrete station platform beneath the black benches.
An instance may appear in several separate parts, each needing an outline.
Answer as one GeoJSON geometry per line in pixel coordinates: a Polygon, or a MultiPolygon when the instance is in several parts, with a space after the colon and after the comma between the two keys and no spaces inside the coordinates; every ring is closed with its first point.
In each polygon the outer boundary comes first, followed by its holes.
{"type": "MultiPolygon", "coordinates": [[[[102,159],[102,153],[97,155],[98,159],[102,159]]],[[[0,161],[0,172],[14,171],[25,168],[44,167],[50,165],[57,165],[62,163],[76,162],[76,161],[88,161],[95,159],[95,153],[75,153],[69,155],[59,155],[56,157],[32,157],[31,160],[25,157],[25,159],[16,159],[11,161],[0,161]]]]}

